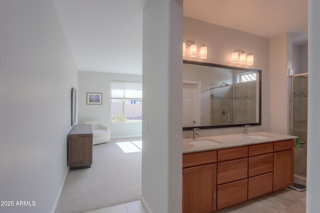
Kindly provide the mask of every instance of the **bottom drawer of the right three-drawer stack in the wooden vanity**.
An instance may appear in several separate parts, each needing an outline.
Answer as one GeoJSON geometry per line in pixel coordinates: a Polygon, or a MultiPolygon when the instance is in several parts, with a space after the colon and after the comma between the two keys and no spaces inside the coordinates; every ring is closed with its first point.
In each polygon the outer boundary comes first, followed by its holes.
{"type": "Polygon", "coordinates": [[[248,178],[248,199],[272,191],[273,172],[248,178]]]}

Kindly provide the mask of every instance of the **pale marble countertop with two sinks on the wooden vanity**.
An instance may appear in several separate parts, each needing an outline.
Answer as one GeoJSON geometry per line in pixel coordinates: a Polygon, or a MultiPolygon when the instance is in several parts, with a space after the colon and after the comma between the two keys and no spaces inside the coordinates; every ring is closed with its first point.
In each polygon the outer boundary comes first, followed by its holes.
{"type": "Polygon", "coordinates": [[[182,150],[183,153],[188,153],[295,138],[297,138],[297,136],[266,131],[250,132],[246,135],[242,133],[197,137],[195,140],[192,138],[184,138],[182,140],[182,150]]]}

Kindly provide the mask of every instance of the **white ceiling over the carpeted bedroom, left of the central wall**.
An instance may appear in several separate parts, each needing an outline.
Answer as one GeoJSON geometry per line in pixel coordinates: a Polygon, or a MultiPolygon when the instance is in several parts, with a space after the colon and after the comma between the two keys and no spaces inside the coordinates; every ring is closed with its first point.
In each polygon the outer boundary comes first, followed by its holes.
{"type": "Polygon", "coordinates": [[[53,0],[78,70],[142,74],[143,0],[53,0]]]}

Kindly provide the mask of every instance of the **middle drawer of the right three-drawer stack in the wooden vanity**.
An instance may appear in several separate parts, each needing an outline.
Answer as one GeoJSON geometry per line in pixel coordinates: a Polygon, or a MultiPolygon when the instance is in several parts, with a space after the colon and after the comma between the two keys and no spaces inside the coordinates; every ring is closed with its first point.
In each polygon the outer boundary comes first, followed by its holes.
{"type": "Polygon", "coordinates": [[[273,153],[249,157],[248,165],[249,177],[270,172],[273,170],[273,153]]]}

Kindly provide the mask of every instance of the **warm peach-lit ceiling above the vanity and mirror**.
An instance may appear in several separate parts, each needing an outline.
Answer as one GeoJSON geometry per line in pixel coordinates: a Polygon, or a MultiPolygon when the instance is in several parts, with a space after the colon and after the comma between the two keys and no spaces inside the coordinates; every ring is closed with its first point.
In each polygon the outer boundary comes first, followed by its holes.
{"type": "Polygon", "coordinates": [[[262,37],[307,42],[308,0],[183,0],[183,15],[262,37]]]}

